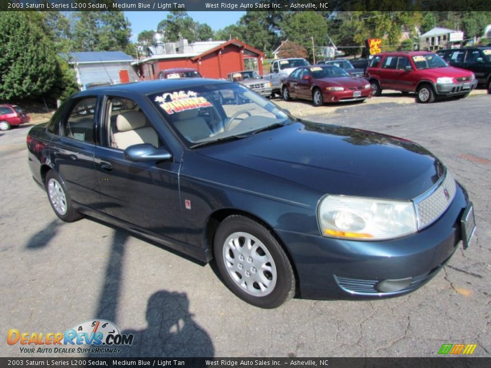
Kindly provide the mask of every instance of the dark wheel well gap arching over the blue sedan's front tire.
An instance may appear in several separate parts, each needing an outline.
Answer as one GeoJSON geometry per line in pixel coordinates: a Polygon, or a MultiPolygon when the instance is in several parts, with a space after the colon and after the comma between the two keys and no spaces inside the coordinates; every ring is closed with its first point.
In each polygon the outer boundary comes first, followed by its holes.
{"type": "Polygon", "coordinates": [[[236,209],[222,209],[222,210],[218,210],[218,211],[214,212],[209,217],[208,222],[207,222],[206,227],[205,227],[205,234],[204,234],[205,239],[204,239],[204,241],[205,241],[206,248],[211,250],[211,252],[210,252],[211,255],[213,256],[213,240],[215,238],[215,233],[218,229],[218,226],[227,217],[232,216],[232,215],[241,215],[244,217],[249,217],[250,219],[260,223],[262,226],[269,229],[271,234],[273,234],[273,236],[276,238],[278,243],[281,245],[281,247],[285,251],[286,257],[288,257],[288,260],[292,264],[293,272],[295,274],[295,283],[296,283],[296,290],[297,290],[296,292],[299,293],[300,287],[299,287],[298,272],[297,272],[297,267],[295,266],[295,263],[293,262],[292,255],[290,254],[288,249],[285,247],[285,245],[283,244],[283,242],[281,241],[279,236],[275,233],[274,229],[269,224],[267,224],[266,222],[264,222],[263,220],[261,220],[257,216],[254,216],[248,212],[240,211],[240,210],[236,210],[236,209]]]}

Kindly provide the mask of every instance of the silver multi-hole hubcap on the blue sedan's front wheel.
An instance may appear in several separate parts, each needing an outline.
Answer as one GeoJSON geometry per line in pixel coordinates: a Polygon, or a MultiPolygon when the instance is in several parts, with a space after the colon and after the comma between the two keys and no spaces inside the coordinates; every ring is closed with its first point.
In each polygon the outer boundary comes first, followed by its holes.
{"type": "Polygon", "coordinates": [[[225,240],[223,258],[232,280],[248,294],[265,296],[275,288],[277,272],[273,257],[251,234],[231,234],[225,240]]]}

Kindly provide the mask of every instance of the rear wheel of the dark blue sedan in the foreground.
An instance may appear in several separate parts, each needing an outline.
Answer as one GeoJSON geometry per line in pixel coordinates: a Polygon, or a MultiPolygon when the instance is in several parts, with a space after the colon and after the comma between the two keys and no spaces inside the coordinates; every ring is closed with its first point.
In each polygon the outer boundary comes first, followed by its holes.
{"type": "Polygon", "coordinates": [[[44,185],[46,186],[51,208],[60,220],[74,222],[83,217],[73,208],[72,199],[66,190],[63,180],[57,173],[53,170],[48,171],[44,179],[44,185]]]}

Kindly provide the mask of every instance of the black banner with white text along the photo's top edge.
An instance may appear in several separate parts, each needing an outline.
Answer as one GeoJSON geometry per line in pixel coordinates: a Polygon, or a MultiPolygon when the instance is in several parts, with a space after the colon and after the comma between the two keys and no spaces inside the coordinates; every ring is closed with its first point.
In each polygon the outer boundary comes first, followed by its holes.
{"type": "Polygon", "coordinates": [[[37,11],[484,11],[489,0],[7,0],[0,10],[37,11]]]}

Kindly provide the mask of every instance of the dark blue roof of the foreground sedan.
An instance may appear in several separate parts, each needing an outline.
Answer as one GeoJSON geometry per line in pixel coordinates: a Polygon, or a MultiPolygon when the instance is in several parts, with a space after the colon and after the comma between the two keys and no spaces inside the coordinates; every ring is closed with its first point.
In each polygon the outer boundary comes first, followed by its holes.
{"type": "Polygon", "coordinates": [[[76,97],[87,95],[104,95],[114,92],[128,93],[136,95],[151,95],[167,90],[188,89],[201,87],[211,84],[230,84],[226,80],[209,79],[209,78],[189,78],[189,79],[155,79],[151,81],[133,82],[116,84],[112,86],[103,86],[87,89],[77,93],[76,97]]]}

